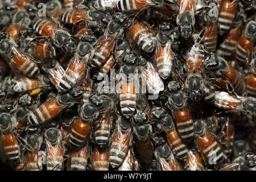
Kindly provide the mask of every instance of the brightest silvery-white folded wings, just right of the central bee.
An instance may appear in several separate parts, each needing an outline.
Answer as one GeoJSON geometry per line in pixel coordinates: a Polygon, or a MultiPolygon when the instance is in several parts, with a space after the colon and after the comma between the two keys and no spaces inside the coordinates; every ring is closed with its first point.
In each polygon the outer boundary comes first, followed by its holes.
{"type": "Polygon", "coordinates": [[[147,68],[139,67],[142,80],[146,82],[149,93],[158,94],[160,91],[164,90],[163,81],[150,61],[147,61],[146,67],[147,68]]]}

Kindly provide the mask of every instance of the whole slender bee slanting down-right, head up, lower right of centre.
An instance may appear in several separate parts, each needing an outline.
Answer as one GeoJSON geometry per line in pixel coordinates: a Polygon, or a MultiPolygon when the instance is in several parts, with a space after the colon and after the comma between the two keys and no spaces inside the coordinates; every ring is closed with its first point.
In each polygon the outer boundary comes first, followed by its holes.
{"type": "Polygon", "coordinates": [[[172,152],[174,152],[176,158],[180,160],[187,159],[188,148],[177,132],[171,115],[163,107],[154,107],[151,112],[153,117],[162,125],[168,143],[170,143],[172,152]]]}

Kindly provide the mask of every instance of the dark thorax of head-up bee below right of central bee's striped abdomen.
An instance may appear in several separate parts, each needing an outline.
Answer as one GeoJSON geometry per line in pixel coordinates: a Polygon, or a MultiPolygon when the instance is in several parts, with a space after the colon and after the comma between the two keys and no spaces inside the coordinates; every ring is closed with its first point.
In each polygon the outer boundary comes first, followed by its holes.
{"type": "Polygon", "coordinates": [[[136,125],[133,127],[133,132],[138,140],[144,141],[150,137],[151,128],[150,125],[136,125]]]}

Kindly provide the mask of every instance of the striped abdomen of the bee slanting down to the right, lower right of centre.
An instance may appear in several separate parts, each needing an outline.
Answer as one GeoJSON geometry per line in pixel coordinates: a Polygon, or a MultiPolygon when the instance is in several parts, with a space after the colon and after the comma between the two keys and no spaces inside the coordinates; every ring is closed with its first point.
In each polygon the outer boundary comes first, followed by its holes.
{"type": "Polygon", "coordinates": [[[166,137],[171,145],[172,152],[177,157],[177,159],[185,160],[188,157],[188,148],[180,138],[179,133],[175,129],[171,131],[166,131],[166,137]]]}

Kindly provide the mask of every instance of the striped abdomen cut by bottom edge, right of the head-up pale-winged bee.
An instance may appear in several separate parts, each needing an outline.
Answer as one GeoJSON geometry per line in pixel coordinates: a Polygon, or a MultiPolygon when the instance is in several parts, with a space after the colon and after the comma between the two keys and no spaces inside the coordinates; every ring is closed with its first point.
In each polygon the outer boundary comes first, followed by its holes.
{"type": "Polygon", "coordinates": [[[84,147],[78,148],[72,151],[72,154],[68,159],[68,171],[85,171],[88,163],[88,145],[85,144],[84,147]]]}

